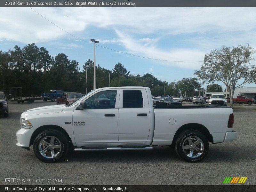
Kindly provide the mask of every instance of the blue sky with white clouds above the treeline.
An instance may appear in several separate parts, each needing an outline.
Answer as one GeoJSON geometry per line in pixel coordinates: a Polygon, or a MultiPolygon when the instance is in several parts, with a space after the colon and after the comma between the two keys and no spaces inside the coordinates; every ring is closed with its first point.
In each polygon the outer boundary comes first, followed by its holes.
{"type": "Polygon", "coordinates": [[[152,73],[170,83],[193,77],[204,55],[222,45],[249,43],[256,49],[256,8],[33,9],[0,8],[0,50],[35,43],[52,56],[64,52],[82,68],[86,60],[93,60],[90,39],[96,39],[99,45],[112,49],[97,46],[97,65],[113,69],[120,62],[130,74],[152,73]]]}

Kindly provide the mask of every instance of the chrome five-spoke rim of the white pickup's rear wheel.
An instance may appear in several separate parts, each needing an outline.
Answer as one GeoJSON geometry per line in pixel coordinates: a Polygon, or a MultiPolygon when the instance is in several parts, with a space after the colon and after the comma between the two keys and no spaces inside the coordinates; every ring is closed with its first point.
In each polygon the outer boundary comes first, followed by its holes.
{"type": "Polygon", "coordinates": [[[196,136],[187,137],[182,143],[183,152],[190,158],[196,158],[202,155],[204,151],[204,142],[196,136]]]}

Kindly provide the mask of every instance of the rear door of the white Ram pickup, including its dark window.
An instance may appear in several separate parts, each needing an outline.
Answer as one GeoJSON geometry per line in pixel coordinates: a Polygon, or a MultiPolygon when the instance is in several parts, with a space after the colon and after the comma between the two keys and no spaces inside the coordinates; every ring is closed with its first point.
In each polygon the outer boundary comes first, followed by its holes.
{"type": "Polygon", "coordinates": [[[120,89],[118,111],[119,142],[146,142],[149,129],[150,116],[146,90],[120,89]]]}

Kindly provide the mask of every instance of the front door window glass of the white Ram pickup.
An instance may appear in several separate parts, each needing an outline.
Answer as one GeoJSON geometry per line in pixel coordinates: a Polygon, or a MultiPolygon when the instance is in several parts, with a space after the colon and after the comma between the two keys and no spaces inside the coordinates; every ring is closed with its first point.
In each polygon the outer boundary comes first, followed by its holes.
{"type": "Polygon", "coordinates": [[[86,100],[87,109],[109,109],[116,106],[117,90],[95,93],[86,100]]]}

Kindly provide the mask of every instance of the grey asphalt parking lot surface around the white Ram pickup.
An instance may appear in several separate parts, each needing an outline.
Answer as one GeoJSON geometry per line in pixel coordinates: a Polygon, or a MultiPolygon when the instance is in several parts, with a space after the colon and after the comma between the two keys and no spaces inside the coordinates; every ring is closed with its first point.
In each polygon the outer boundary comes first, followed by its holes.
{"type": "Polygon", "coordinates": [[[172,148],[154,147],[149,151],[71,151],[63,161],[45,164],[31,147],[27,151],[15,145],[15,133],[20,129],[22,112],[54,104],[42,100],[9,102],[9,117],[0,116],[0,185],[223,185],[228,176],[248,177],[244,185],[256,184],[256,105],[238,105],[244,107],[234,110],[237,139],[210,144],[207,157],[199,163],[181,160],[172,148]],[[5,178],[41,180],[13,183],[5,178]],[[48,179],[62,182],[45,183],[48,179]]]}

